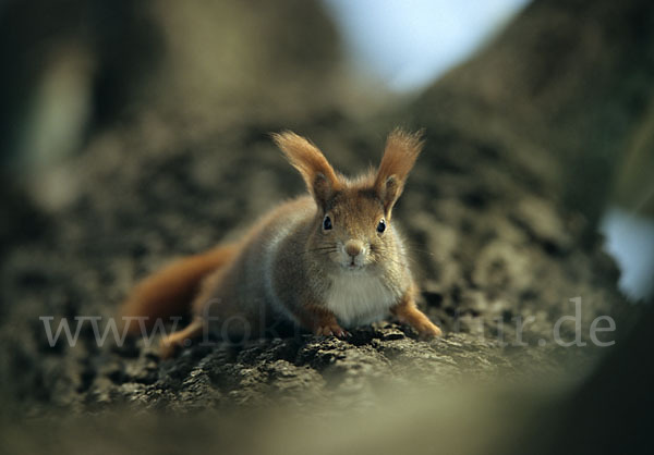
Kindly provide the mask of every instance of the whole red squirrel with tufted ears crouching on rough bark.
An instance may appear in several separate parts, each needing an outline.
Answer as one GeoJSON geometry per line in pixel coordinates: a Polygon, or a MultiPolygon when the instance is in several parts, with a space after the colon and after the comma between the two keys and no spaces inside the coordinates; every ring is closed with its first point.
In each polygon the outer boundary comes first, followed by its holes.
{"type": "MultiPolygon", "coordinates": [[[[300,172],[310,195],[265,214],[240,242],[180,259],[146,278],[122,306],[125,317],[179,316],[193,321],[161,342],[162,357],[208,324],[238,319],[231,332],[263,333],[283,320],[317,335],[389,312],[422,337],[441,332],[415,305],[417,285],[392,223],[392,208],[423,147],[421,134],[395,130],[379,168],[349,179],[323,152],[292,132],[272,138],[300,172]],[[238,327],[237,327],[238,325],[238,327]]],[[[136,332],[132,321],[129,331],[136,332]]],[[[152,323],[150,323],[152,325],[152,323]]]]}

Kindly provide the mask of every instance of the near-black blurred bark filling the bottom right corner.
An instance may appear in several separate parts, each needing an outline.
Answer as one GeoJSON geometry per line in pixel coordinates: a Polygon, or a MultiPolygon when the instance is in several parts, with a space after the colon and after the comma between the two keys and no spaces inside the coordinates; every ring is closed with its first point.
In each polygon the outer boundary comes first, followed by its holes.
{"type": "MultiPolygon", "coordinates": [[[[652,303],[581,386],[528,425],[531,453],[634,454],[651,447],[652,303]],[[547,428],[546,432],[542,428],[547,428]]],[[[524,441],[524,442],[526,442],[524,441]]],[[[517,447],[516,454],[523,453],[517,447]]]]}

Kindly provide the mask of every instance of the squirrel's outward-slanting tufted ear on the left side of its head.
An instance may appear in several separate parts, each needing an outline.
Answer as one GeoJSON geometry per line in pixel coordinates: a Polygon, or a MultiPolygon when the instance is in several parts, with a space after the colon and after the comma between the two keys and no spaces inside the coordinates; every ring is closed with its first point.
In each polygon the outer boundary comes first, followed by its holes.
{"type": "Polygon", "coordinates": [[[272,134],[272,140],[300,172],[314,199],[325,208],[342,185],[323,152],[307,139],[290,131],[272,134]]]}

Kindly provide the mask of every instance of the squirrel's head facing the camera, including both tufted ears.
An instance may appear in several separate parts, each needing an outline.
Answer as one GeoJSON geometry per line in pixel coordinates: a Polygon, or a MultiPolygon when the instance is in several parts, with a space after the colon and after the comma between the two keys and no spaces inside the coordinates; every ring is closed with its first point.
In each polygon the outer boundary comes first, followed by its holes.
{"type": "Polygon", "coordinates": [[[336,267],[363,270],[398,266],[400,247],[390,224],[392,208],[423,147],[422,132],[395,130],[379,167],[356,179],[334,171],[323,152],[292,132],[272,135],[300,172],[317,205],[307,249],[336,267]]]}

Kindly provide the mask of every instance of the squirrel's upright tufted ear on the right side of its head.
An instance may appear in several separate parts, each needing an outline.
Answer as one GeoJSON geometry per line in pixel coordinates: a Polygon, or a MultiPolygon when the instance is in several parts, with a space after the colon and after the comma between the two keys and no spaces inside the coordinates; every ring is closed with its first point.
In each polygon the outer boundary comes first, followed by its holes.
{"type": "Polygon", "coordinates": [[[423,131],[407,133],[393,130],[386,139],[386,148],[379,170],[375,176],[374,188],[384,204],[387,216],[396,200],[402,194],[404,182],[423,148],[423,131]]]}

